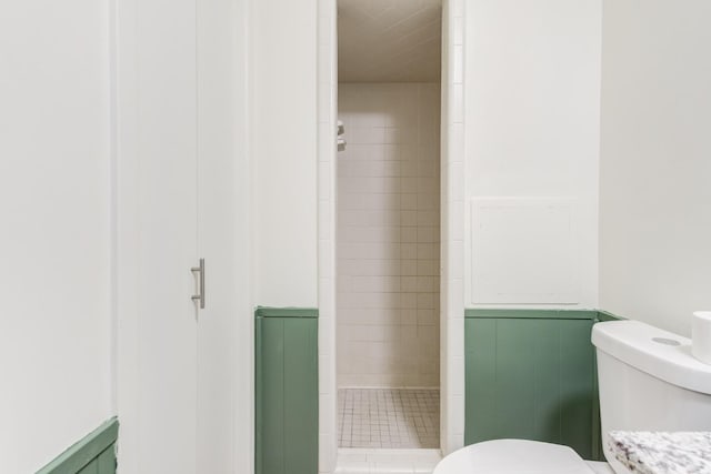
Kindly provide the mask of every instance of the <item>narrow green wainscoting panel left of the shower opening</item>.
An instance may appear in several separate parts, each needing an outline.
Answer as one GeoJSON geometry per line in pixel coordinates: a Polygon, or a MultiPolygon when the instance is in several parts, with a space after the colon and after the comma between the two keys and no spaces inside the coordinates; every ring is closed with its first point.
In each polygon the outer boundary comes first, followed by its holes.
{"type": "Polygon", "coordinates": [[[256,311],[256,473],[317,474],[318,310],[256,311]]]}

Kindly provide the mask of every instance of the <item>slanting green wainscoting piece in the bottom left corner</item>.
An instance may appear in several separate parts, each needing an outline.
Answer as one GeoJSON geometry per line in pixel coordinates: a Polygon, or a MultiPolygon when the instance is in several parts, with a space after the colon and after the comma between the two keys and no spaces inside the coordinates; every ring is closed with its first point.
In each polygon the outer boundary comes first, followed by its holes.
{"type": "Polygon", "coordinates": [[[116,474],[119,422],[111,418],[73,444],[37,474],[116,474]]]}

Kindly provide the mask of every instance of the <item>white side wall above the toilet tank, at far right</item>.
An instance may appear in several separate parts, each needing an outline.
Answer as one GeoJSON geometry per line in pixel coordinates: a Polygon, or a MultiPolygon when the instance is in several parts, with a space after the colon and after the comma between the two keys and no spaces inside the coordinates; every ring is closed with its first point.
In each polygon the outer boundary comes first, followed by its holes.
{"type": "Polygon", "coordinates": [[[600,301],[689,335],[711,309],[711,3],[604,2],[600,301]]]}

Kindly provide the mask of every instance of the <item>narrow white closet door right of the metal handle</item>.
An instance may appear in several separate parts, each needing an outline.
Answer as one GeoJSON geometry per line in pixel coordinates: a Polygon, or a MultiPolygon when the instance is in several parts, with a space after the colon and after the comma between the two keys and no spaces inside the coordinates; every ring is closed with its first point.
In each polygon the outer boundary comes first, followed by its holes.
{"type": "MultiPolygon", "coordinates": [[[[252,434],[249,173],[233,0],[198,1],[198,474],[250,473],[252,434]]],[[[238,28],[239,30],[239,28],[238,28]]],[[[242,29],[243,31],[243,29],[242,29]]],[[[243,50],[242,50],[243,51],[243,50]]]]}

